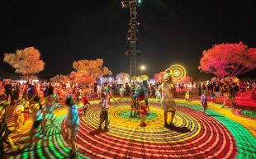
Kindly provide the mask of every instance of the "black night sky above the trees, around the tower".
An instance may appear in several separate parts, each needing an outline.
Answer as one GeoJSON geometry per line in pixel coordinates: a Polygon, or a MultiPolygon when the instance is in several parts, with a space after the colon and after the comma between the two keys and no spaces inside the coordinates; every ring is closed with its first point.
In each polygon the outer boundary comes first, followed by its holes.
{"type": "MultiPolygon", "coordinates": [[[[149,75],[180,63],[190,76],[206,79],[209,74],[197,69],[204,49],[239,41],[256,47],[255,0],[143,2],[138,65],[145,64],[149,75]]],[[[119,0],[0,2],[0,15],[0,58],[34,46],[46,63],[40,77],[67,74],[73,60],[94,58],[103,58],[114,76],[130,72],[124,55],[130,12],[119,0]]],[[[2,77],[17,76],[2,60],[0,67],[2,77]]]]}

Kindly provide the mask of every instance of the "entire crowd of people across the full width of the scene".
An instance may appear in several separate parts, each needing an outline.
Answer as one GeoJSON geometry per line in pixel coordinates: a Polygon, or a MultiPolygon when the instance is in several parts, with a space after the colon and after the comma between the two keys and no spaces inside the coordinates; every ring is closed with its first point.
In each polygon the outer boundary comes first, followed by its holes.
{"type": "MultiPolygon", "coordinates": [[[[9,138],[10,133],[20,133],[22,125],[26,124],[29,114],[32,115],[33,125],[30,130],[30,143],[33,143],[35,136],[45,138],[45,128],[47,126],[55,126],[55,108],[62,105],[59,100],[64,99],[64,105],[68,107],[68,114],[64,124],[64,130],[67,134],[67,141],[71,146],[71,155],[76,156],[75,138],[78,132],[79,119],[78,115],[86,115],[88,108],[91,107],[88,98],[96,97],[100,99],[100,120],[98,129],[108,129],[110,119],[108,110],[111,100],[115,101],[114,96],[120,95],[120,101],[124,96],[130,96],[130,118],[139,118],[140,126],[146,126],[146,116],[150,114],[149,97],[157,98],[161,101],[164,110],[164,127],[169,128],[173,125],[173,119],[177,110],[177,105],[173,98],[177,91],[185,91],[185,99],[189,101],[189,93],[197,93],[201,97],[201,105],[203,113],[207,109],[207,96],[216,99],[216,103],[220,104],[220,96],[223,96],[222,107],[225,107],[226,101],[230,100],[230,107],[236,106],[235,97],[240,91],[241,98],[246,99],[245,92],[255,90],[255,82],[251,82],[248,87],[247,82],[235,83],[232,80],[226,82],[196,82],[192,83],[191,89],[184,85],[175,85],[172,81],[170,70],[166,70],[164,74],[164,82],[155,82],[148,84],[144,82],[135,82],[132,84],[116,85],[115,83],[103,83],[87,87],[87,91],[83,87],[79,87],[77,83],[70,82],[3,82],[0,89],[4,94],[1,96],[0,103],[0,121],[1,121],[1,154],[3,157],[3,143],[8,143],[12,149],[15,149],[15,143],[9,138]],[[2,87],[1,87],[2,86],[2,87]],[[195,86],[195,87],[194,87],[195,86]],[[179,89],[179,90],[177,90],[179,89]],[[77,105],[83,103],[83,111],[79,112],[77,105]],[[14,106],[13,119],[15,127],[12,131],[7,127],[7,106],[14,106]],[[171,112],[171,122],[167,123],[168,112],[171,112]],[[47,121],[50,124],[47,125],[47,121]],[[35,135],[37,133],[37,135],[35,135]]],[[[254,99],[254,98],[253,98],[254,99]]]]}

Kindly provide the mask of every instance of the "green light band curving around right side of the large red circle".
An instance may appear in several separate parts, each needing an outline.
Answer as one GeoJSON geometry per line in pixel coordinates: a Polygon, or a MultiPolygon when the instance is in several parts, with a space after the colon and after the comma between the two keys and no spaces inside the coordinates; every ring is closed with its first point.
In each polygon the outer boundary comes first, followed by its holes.
{"type": "MultiPolygon", "coordinates": [[[[202,110],[201,105],[190,105],[183,102],[177,103],[178,105],[183,105],[194,110],[202,110]]],[[[213,118],[218,120],[230,131],[238,147],[237,158],[256,158],[256,139],[249,133],[248,129],[245,129],[243,125],[236,123],[234,120],[224,115],[220,115],[214,110],[206,110],[206,115],[212,115],[213,118]]]]}

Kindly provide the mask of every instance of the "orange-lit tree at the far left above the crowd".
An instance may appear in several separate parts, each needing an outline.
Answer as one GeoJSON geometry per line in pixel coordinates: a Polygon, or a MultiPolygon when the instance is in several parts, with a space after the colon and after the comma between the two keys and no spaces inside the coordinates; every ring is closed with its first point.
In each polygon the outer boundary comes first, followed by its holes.
{"type": "Polygon", "coordinates": [[[17,49],[15,54],[4,54],[3,61],[9,63],[25,79],[35,78],[36,73],[45,68],[45,63],[40,60],[39,50],[34,47],[17,49]]]}

